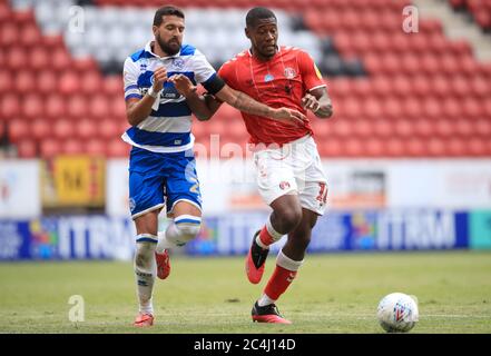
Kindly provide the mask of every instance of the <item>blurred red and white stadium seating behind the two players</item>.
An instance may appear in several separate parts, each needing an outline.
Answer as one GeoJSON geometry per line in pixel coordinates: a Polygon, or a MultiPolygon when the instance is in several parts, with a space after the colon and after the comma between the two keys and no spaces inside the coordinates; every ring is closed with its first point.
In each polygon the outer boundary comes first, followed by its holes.
{"type": "MultiPolygon", "coordinates": [[[[161,1],[84,3],[77,32],[67,13],[80,2],[0,1],[0,141],[19,157],[128,154],[119,139],[127,128],[120,68],[151,38],[161,1]]],[[[243,17],[251,1],[173,3],[186,10],[186,38],[214,66],[247,47],[243,17]]],[[[421,20],[420,32],[404,33],[410,1],[254,4],[279,9],[281,43],[307,50],[326,77],[334,118],[311,116],[323,157],[491,156],[491,63],[478,62],[468,42],[450,41],[439,21],[421,20]]],[[[238,112],[225,105],[193,131],[207,147],[216,134],[222,145],[247,140],[238,112]]]]}

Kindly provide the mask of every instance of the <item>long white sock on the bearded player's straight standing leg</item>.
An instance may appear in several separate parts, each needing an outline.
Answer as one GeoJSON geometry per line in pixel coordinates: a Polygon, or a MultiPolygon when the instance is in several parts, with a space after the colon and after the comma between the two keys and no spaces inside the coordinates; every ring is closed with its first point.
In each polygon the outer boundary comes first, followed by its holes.
{"type": "Polygon", "coordinates": [[[141,234],[137,236],[134,263],[135,277],[139,312],[146,314],[154,314],[151,296],[155,276],[157,275],[157,264],[155,261],[156,245],[157,236],[155,235],[141,234]]]}

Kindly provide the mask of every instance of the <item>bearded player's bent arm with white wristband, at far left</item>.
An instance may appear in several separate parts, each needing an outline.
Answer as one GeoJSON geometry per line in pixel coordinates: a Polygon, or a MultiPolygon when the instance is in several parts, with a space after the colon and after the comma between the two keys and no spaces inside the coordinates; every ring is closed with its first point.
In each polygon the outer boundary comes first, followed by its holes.
{"type": "Polygon", "coordinates": [[[129,125],[137,126],[150,115],[151,107],[155,100],[158,99],[158,93],[166,80],[167,70],[160,67],[154,72],[154,85],[143,98],[129,98],[126,100],[126,117],[129,125]]]}

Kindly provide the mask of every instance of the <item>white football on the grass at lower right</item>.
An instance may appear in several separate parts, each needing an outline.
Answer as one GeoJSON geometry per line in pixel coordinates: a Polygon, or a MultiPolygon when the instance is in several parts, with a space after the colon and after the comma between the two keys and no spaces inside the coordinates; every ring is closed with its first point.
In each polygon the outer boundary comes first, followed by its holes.
{"type": "Polygon", "coordinates": [[[419,319],[418,303],[414,296],[391,293],[379,303],[376,317],[387,333],[406,333],[419,319]]]}

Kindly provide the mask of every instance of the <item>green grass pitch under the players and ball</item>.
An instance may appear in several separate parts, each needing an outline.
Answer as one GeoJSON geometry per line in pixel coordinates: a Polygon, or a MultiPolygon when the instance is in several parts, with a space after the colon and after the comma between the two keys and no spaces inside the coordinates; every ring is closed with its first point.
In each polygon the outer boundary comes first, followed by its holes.
{"type": "Polygon", "coordinates": [[[175,256],[156,281],[153,328],[131,326],[136,291],[130,263],[0,264],[1,333],[384,333],[375,313],[392,291],[419,298],[411,333],[491,333],[491,251],[327,254],[307,256],[278,300],[289,326],[252,323],[251,308],[274,266],[251,285],[244,258],[175,256]],[[85,300],[71,323],[69,297],[85,300]]]}

